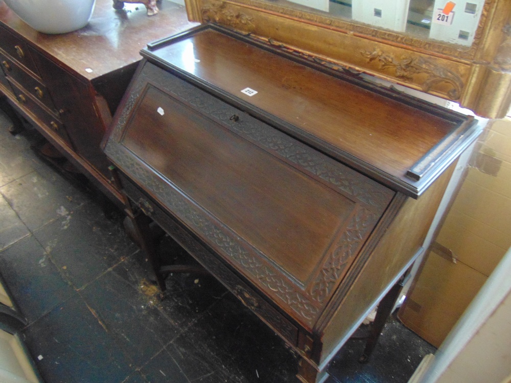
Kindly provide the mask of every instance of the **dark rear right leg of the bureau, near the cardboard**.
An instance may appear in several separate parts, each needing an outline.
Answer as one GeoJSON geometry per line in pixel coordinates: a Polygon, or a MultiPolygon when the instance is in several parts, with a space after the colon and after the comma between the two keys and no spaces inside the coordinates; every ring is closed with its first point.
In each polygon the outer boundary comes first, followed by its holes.
{"type": "Polygon", "coordinates": [[[360,363],[366,363],[369,361],[369,357],[371,356],[371,353],[373,353],[373,350],[378,343],[378,338],[380,337],[383,326],[385,326],[385,322],[387,321],[387,318],[392,311],[392,307],[394,307],[394,304],[396,304],[396,300],[398,299],[403,286],[408,280],[410,270],[411,268],[408,269],[405,274],[403,274],[399,281],[392,286],[389,292],[380,301],[375,320],[369,328],[369,337],[365,344],[364,353],[358,360],[360,363]]]}

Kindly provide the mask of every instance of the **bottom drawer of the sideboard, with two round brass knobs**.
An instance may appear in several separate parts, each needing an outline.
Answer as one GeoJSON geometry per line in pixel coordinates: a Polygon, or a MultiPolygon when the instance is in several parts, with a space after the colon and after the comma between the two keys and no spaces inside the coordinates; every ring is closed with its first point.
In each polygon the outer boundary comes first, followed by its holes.
{"type": "Polygon", "coordinates": [[[27,94],[25,90],[19,86],[19,84],[12,79],[8,80],[20,106],[42,122],[47,127],[47,133],[60,138],[60,140],[62,140],[68,147],[72,148],[73,145],[67,136],[67,132],[65,131],[62,122],[50,110],[36,101],[32,95],[27,94]]]}

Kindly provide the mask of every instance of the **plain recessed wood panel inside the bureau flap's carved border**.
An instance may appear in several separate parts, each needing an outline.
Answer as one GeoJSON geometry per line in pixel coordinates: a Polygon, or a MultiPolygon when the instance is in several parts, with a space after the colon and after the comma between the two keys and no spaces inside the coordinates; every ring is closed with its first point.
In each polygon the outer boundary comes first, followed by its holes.
{"type": "Polygon", "coordinates": [[[302,283],[356,207],[155,88],[123,145],[302,283]]]}

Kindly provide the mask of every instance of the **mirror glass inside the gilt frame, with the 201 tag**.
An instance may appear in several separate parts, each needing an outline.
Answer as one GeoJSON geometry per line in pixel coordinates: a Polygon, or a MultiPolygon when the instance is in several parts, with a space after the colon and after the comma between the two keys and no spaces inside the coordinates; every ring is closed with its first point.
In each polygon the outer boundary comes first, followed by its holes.
{"type": "MultiPolygon", "coordinates": [[[[272,1],[272,0],[269,0],[272,1]]],[[[419,38],[470,46],[484,0],[276,0],[286,7],[328,12],[419,38]],[[301,6],[301,7],[300,7],[301,6]]]]}

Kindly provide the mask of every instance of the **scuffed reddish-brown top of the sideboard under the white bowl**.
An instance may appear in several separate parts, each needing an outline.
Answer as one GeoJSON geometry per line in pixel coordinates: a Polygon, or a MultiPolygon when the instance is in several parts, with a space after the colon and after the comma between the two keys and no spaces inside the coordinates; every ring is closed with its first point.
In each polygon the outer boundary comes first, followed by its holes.
{"type": "Polygon", "coordinates": [[[180,5],[162,0],[158,7],[160,12],[148,17],[142,4],[126,4],[124,10],[116,11],[111,0],[97,0],[87,26],[71,33],[48,35],[32,29],[0,1],[0,22],[68,70],[93,80],[140,61],[139,51],[148,42],[197,25],[188,21],[180,5]]]}

